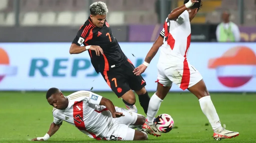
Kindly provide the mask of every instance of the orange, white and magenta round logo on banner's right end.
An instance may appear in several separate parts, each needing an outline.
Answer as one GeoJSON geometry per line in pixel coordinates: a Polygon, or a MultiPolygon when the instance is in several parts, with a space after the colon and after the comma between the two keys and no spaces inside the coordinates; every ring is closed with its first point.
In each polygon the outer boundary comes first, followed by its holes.
{"type": "Polygon", "coordinates": [[[256,56],[246,46],[230,48],[221,57],[210,59],[208,68],[215,69],[217,78],[222,85],[239,87],[255,76],[256,56]]]}

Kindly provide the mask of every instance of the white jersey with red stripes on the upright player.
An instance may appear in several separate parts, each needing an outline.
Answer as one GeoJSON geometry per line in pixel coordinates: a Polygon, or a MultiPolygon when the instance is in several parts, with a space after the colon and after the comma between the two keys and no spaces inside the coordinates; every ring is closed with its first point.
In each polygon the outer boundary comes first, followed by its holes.
{"type": "Polygon", "coordinates": [[[160,36],[164,38],[164,44],[160,49],[159,62],[183,62],[187,57],[191,37],[188,11],[185,10],[176,21],[166,18],[160,36]]]}

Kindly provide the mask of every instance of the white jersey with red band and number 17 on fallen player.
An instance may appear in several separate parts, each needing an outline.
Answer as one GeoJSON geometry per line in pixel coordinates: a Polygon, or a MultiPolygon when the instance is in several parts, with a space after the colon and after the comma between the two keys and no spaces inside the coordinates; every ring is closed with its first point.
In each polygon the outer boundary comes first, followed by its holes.
{"type": "Polygon", "coordinates": [[[55,124],[64,120],[91,138],[110,139],[116,120],[110,112],[102,112],[108,110],[105,106],[97,106],[102,96],[90,91],[78,91],[66,97],[69,100],[68,107],[64,110],[54,108],[52,111],[55,124]]]}

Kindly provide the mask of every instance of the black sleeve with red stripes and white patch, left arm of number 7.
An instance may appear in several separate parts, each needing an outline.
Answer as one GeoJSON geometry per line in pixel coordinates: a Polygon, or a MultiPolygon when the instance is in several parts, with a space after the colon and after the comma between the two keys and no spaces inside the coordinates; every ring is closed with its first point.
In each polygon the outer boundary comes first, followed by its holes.
{"type": "Polygon", "coordinates": [[[76,44],[78,46],[81,46],[84,42],[88,41],[89,38],[92,38],[92,25],[82,25],[80,29],[77,32],[76,37],[74,38],[72,44],[76,44]],[[89,37],[89,38],[88,38],[89,37]]]}

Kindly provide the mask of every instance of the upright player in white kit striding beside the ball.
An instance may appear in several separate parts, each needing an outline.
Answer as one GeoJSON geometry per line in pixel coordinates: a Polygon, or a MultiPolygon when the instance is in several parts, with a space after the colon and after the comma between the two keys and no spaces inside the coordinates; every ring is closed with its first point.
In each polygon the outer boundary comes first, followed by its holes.
{"type": "Polygon", "coordinates": [[[188,89],[199,99],[202,112],[214,131],[214,139],[220,140],[239,135],[238,132],[226,130],[226,125],[221,126],[201,74],[187,61],[191,37],[190,21],[196,16],[201,6],[201,0],[184,0],[183,6],[174,9],[166,18],[164,28],[148,52],[145,62],[133,71],[136,75],[143,73],[161,47],[157,64],[157,91],[150,99],[146,123],[143,125],[144,131],[151,130],[153,135],[161,135],[155,130],[153,119],[173,82],[182,90],[188,89]]]}

